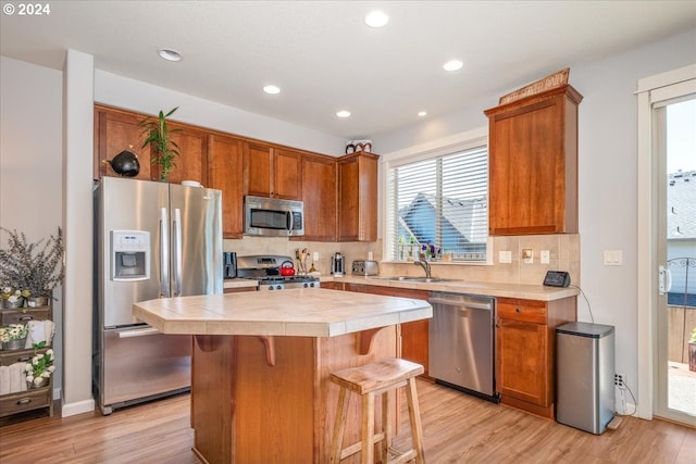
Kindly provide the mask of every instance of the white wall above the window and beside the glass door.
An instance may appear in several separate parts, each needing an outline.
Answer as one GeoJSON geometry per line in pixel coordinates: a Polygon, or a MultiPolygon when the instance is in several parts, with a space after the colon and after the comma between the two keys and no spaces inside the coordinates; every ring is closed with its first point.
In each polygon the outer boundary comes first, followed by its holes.
{"type": "MultiPolygon", "coordinates": [[[[570,83],[583,96],[580,104],[580,250],[581,281],[595,322],[616,326],[617,371],[637,391],[637,101],[639,78],[696,61],[696,28],[605,60],[573,64],[570,83]],[[622,266],[605,266],[604,251],[621,250],[622,266]],[[635,388],[634,388],[635,387],[635,388]]],[[[550,70],[556,71],[556,70],[550,70]]],[[[534,80],[540,76],[535,76],[534,80]]],[[[519,83],[520,87],[527,83],[519,83]]],[[[373,136],[388,154],[423,143],[432,134],[446,137],[487,124],[483,111],[495,96],[465,104],[457,113],[418,126],[373,136]]],[[[579,318],[589,322],[579,299],[579,318]]],[[[645,401],[648,401],[645,398],[645,401]]]]}

